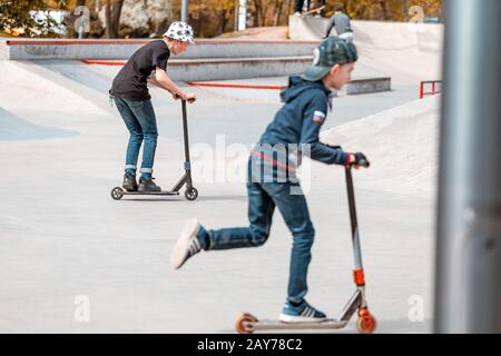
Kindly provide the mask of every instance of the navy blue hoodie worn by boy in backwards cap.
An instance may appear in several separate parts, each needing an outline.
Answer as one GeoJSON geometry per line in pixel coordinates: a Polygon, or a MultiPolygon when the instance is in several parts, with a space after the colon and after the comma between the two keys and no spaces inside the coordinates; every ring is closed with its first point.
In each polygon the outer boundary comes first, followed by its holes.
{"type": "MultiPolygon", "coordinates": [[[[310,145],[310,152],[303,150],[312,159],[327,165],[345,165],[347,152],[332,148],[318,140],[320,130],[325,122],[331,91],[322,81],[307,81],[301,77],[291,77],[288,88],[282,91],[281,98],[285,105],[275,115],[261,137],[261,145],[310,145]]],[[[256,147],[255,152],[266,158],[266,149],[256,147]]],[[[287,166],[284,159],[268,159],[274,166],[287,166]]]]}

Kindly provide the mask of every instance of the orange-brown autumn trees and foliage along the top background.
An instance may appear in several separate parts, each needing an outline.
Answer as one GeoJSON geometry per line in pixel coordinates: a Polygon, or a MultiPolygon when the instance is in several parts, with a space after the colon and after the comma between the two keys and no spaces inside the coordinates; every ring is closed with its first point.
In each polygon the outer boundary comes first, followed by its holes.
{"type": "MultiPolygon", "coordinates": [[[[20,36],[56,36],[50,21],[37,23],[30,10],[65,9],[69,16],[68,37],[75,37],[72,10],[86,6],[90,10],[90,37],[158,37],[174,20],[179,20],[181,0],[0,0],[0,34],[18,31],[20,36]],[[135,18],[141,21],[135,22],[135,18]],[[146,18],[146,20],[145,20],[146,18]],[[139,23],[140,22],[140,23],[139,23]]],[[[353,19],[409,21],[413,7],[420,6],[424,17],[443,20],[442,0],[335,0],[326,1],[324,16],[333,13],[334,4],[343,4],[353,19]]],[[[238,0],[189,0],[189,23],[196,37],[216,37],[235,30],[238,0]]],[[[318,0],[311,1],[312,8],[318,0]]],[[[287,26],[294,0],[247,0],[247,27],[287,26]]]]}

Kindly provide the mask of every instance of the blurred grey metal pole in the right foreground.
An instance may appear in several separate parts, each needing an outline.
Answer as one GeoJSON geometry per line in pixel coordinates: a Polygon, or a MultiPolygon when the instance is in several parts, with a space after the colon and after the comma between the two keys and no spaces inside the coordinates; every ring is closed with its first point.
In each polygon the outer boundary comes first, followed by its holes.
{"type": "Polygon", "coordinates": [[[501,333],[501,1],[446,0],[435,333],[501,333]]]}

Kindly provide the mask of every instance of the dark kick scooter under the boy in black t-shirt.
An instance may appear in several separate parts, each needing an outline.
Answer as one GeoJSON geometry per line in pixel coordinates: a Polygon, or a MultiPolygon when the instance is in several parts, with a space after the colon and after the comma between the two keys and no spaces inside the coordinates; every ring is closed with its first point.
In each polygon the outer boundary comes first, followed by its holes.
{"type": "Polygon", "coordinates": [[[121,187],[111,189],[111,198],[120,200],[124,196],[178,196],[179,190],[186,185],[185,197],[188,200],[195,200],[198,197],[198,190],[195,189],[191,181],[191,165],[189,162],[189,142],[188,142],[188,120],[186,118],[186,101],[181,100],[183,106],[183,134],[185,142],[185,174],[174,186],[173,190],[164,191],[127,191],[121,187]]]}

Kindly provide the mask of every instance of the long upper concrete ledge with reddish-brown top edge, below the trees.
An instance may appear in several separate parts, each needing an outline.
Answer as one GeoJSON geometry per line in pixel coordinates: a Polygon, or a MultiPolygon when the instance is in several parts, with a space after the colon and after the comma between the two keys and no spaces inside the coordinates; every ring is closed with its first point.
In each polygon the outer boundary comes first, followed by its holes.
{"type": "MultiPolygon", "coordinates": [[[[0,53],[10,60],[128,59],[151,40],[3,39],[0,53]],[[3,50],[3,51],[2,51],[3,50]]],[[[311,56],[318,41],[197,40],[176,58],[263,58],[311,56]]]]}

